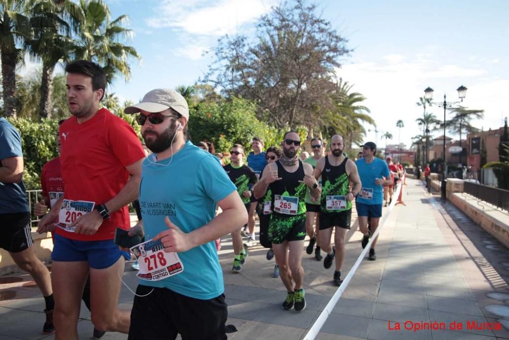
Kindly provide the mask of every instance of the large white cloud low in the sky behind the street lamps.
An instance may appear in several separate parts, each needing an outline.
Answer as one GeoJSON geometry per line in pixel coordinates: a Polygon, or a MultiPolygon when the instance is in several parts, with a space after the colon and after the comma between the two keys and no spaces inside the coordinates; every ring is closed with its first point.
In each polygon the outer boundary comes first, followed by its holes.
{"type": "MultiPolygon", "coordinates": [[[[464,106],[472,109],[484,109],[485,119],[472,122],[474,126],[485,129],[500,126],[502,115],[508,110],[504,98],[509,92],[509,80],[497,79],[482,67],[440,64],[438,57],[426,54],[415,57],[398,56],[383,58],[383,62],[363,62],[344,65],[336,71],[344,81],[355,84],[353,91],[366,96],[365,106],[371,109],[371,115],[377,123],[378,141],[384,132],[393,135],[392,143],[398,142],[397,120],[402,119],[405,127],[401,129],[401,142],[410,145],[410,139],[421,134],[415,119],[422,116],[423,109],[416,102],[423,96],[428,86],[435,89],[434,100],[440,101],[446,91],[447,100],[458,100],[456,89],[460,85],[468,87],[464,106]]],[[[387,57],[387,56],[386,56],[387,57]]],[[[433,106],[428,110],[439,119],[443,119],[443,109],[433,106]]],[[[375,140],[374,128],[365,126],[367,140],[375,140]]],[[[438,133],[436,133],[438,135],[438,133]]],[[[381,145],[382,145],[381,144],[381,145]]]]}

